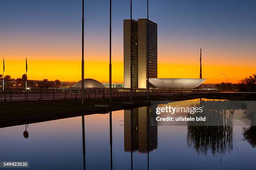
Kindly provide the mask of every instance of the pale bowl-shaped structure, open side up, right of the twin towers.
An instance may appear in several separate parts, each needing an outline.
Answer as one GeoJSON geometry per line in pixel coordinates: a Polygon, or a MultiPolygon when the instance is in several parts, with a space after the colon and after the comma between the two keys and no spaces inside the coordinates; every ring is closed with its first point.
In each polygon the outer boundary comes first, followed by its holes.
{"type": "Polygon", "coordinates": [[[161,89],[193,89],[206,79],[200,78],[149,78],[149,82],[161,89]]]}

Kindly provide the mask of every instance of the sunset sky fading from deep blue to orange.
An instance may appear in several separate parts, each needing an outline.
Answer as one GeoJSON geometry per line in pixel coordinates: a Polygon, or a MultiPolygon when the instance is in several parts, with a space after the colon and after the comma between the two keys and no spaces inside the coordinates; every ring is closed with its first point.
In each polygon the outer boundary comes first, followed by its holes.
{"type": "MultiPolygon", "coordinates": [[[[256,0],[149,0],[158,24],[158,77],[236,83],[256,73],[256,0]]],[[[130,0],[112,0],[112,82],[123,82],[123,20],[130,0]]],[[[133,0],[133,19],[146,18],[133,0]]],[[[82,0],[2,0],[0,74],[81,80],[82,0]]],[[[109,0],[85,1],[85,78],[108,82],[109,0]]]]}

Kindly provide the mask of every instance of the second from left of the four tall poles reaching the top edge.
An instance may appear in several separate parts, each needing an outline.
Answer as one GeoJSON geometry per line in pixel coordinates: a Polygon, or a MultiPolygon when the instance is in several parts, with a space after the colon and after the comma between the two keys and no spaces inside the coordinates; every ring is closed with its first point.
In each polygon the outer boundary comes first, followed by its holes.
{"type": "Polygon", "coordinates": [[[111,65],[111,5],[110,0],[110,12],[109,12],[109,102],[112,102],[112,65],[111,65]]]}

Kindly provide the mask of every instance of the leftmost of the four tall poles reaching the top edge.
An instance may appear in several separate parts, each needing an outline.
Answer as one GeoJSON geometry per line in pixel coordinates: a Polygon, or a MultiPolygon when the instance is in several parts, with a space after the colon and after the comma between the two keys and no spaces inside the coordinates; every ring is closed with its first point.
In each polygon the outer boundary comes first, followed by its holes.
{"type": "Polygon", "coordinates": [[[82,105],[84,105],[84,0],[82,0],[82,105]]]}

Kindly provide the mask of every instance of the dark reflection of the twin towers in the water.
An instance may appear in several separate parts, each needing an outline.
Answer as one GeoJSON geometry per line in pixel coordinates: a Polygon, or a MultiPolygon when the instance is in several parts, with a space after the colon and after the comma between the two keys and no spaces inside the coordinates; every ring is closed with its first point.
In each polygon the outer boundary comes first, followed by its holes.
{"type": "Polygon", "coordinates": [[[124,110],[124,150],[147,153],[157,148],[156,119],[150,107],[124,110]],[[148,144],[148,145],[147,145],[148,144]]]}

